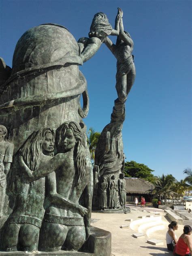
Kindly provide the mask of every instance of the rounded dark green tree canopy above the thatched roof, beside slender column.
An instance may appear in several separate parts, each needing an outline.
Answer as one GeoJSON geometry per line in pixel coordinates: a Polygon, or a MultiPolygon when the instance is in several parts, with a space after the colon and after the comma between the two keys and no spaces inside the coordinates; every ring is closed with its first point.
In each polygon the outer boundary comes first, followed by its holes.
{"type": "Polygon", "coordinates": [[[125,177],[135,177],[145,179],[147,181],[153,182],[155,180],[154,175],[152,174],[154,170],[151,170],[145,164],[139,164],[135,161],[130,161],[125,163],[124,173],[125,177]]]}

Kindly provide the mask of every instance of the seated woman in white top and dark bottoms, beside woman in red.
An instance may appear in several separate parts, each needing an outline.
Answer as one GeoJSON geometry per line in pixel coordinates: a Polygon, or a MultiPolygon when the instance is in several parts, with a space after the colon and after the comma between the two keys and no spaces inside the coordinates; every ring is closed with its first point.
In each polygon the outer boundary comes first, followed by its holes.
{"type": "Polygon", "coordinates": [[[177,243],[177,236],[175,235],[175,230],[178,229],[178,225],[176,221],[172,221],[169,225],[168,225],[168,230],[166,233],[166,246],[167,249],[169,251],[174,250],[174,244],[177,243]]]}

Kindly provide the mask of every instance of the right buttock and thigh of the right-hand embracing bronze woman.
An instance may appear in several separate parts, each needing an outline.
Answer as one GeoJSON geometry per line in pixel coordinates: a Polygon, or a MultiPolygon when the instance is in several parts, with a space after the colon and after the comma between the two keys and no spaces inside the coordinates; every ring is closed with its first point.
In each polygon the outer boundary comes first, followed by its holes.
{"type": "Polygon", "coordinates": [[[76,251],[82,247],[83,243],[85,243],[85,227],[72,226],[68,231],[63,247],[68,251],[76,251]]]}

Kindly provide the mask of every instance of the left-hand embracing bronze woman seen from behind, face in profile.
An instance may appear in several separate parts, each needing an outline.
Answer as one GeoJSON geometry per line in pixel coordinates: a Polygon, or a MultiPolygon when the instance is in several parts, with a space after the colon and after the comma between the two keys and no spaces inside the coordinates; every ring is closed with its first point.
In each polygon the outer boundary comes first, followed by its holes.
{"type": "Polygon", "coordinates": [[[50,128],[33,132],[19,151],[13,164],[16,181],[15,209],[6,222],[2,245],[6,251],[33,251],[38,247],[38,237],[45,209],[45,177],[30,182],[28,173],[18,164],[22,158],[25,166],[35,173],[38,166],[53,157],[55,133],[50,128]]]}

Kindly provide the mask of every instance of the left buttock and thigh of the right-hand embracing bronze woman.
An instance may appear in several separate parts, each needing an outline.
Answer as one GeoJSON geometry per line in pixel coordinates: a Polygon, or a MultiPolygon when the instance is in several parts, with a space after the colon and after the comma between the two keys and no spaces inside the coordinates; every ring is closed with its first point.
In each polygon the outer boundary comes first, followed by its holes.
{"type": "Polygon", "coordinates": [[[43,222],[39,237],[39,251],[53,252],[61,250],[68,228],[62,224],[43,222]]]}

